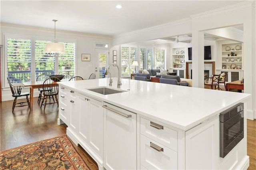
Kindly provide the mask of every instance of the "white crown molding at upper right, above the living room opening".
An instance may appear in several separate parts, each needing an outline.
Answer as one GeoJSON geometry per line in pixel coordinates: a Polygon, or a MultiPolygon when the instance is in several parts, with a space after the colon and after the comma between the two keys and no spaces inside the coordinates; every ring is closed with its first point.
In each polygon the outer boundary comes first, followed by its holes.
{"type": "Polygon", "coordinates": [[[202,12],[199,14],[190,15],[190,17],[192,20],[197,20],[200,18],[207,18],[209,16],[215,16],[215,15],[220,15],[220,14],[225,14],[225,13],[230,13],[230,12],[237,12],[238,10],[249,9],[254,6],[255,6],[255,0],[248,0],[246,2],[232,4],[230,6],[225,6],[222,8],[215,9],[215,10],[210,10],[210,11],[202,12]]]}

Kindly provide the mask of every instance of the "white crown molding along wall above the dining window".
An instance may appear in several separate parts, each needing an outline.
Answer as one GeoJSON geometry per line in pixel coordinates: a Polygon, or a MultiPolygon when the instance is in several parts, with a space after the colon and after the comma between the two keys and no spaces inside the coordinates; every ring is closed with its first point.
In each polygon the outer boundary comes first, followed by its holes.
{"type": "MultiPolygon", "coordinates": [[[[16,31],[30,31],[30,32],[44,32],[44,33],[53,33],[54,29],[50,28],[42,28],[42,27],[33,27],[33,26],[24,26],[24,25],[17,25],[17,24],[8,24],[8,23],[0,23],[1,29],[12,29],[16,31]]],[[[113,39],[113,36],[106,36],[101,34],[89,34],[89,33],[82,33],[82,32],[72,32],[66,30],[57,30],[58,35],[68,35],[68,36],[82,36],[86,38],[107,38],[109,40],[113,39]]]]}

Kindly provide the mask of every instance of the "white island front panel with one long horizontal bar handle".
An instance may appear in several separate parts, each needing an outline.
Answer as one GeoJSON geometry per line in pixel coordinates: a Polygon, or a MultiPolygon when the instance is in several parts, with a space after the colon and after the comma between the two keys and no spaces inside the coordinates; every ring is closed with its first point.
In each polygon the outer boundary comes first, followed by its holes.
{"type": "Polygon", "coordinates": [[[137,169],[136,114],[104,103],[104,168],[137,169]]]}

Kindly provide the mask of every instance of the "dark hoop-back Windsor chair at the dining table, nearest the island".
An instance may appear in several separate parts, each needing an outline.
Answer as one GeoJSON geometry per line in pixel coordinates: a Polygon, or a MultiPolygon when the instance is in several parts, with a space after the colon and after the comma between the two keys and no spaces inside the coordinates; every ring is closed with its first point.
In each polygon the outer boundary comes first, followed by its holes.
{"type": "MultiPolygon", "coordinates": [[[[58,79],[57,77],[54,77],[55,80],[57,81],[60,81],[60,79],[58,79]]],[[[54,103],[57,103],[58,107],[59,107],[59,102],[58,102],[58,98],[57,98],[57,95],[59,93],[59,84],[56,83],[56,81],[52,81],[52,77],[46,79],[43,83],[43,101],[42,101],[42,104],[41,104],[41,108],[42,108],[42,105],[44,105],[44,110],[45,110],[45,107],[46,105],[48,104],[54,104],[54,103]],[[54,97],[55,96],[55,100],[56,102],[53,100],[53,102],[51,102],[49,100],[49,103],[47,103],[47,99],[49,97],[54,97]]]]}

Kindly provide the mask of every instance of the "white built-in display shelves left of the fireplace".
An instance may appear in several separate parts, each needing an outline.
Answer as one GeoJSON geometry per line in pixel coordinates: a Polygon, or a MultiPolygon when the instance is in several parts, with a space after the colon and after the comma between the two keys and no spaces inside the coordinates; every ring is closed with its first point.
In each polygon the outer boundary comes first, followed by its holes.
{"type": "Polygon", "coordinates": [[[185,48],[172,48],[172,62],[174,68],[185,68],[185,48]]]}

